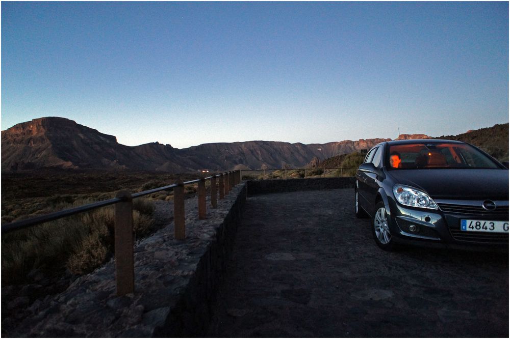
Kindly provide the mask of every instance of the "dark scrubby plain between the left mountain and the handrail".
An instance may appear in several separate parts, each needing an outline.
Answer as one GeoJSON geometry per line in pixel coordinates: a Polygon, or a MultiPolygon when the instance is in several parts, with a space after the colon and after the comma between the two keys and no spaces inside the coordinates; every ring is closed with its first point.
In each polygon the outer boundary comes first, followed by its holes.
{"type": "Polygon", "coordinates": [[[66,207],[62,204],[77,200],[110,199],[119,190],[139,192],[171,185],[178,178],[183,181],[197,179],[199,175],[65,170],[2,173],[2,222],[62,210],[66,207]]]}

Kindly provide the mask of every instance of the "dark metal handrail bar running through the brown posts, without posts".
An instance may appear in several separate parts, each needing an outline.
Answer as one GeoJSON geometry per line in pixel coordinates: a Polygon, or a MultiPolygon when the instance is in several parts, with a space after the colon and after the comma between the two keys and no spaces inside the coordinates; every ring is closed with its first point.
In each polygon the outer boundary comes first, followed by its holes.
{"type": "MultiPolygon", "coordinates": [[[[232,173],[232,172],[225,172],[225,173],[232,173]]],[[[221,174],[214,175],[214,176],[211,176],[211,177],[207,177],[207,178],[205,178],[205,180],[212,179],[213,177],[219,177],[219,176],[221,176],[221,174]]],[[[184,185],[194,184],[194,183],[197,183],[199,181],[201,181],[201,179],[186,181],[183,184],[184,185]]],[[[148,194],[151,194],[151,193],[156,193],[156,192],[159,192],[159,191],[168,190],[168,189],[174,188],[176,186],[178,186],[178,185],[177,184],[172,184],[172,185],[168,185],[168,186],[162,186],[162,187],[158,187],[158,188],[154,188],[154,189],[149,189],[149,190],[146,190],[146,191],[143,191],[143,192],[133,193],[132,197],[133,197],[133,199],[135,199],[135,198],[140,197],[140,196],[148,195],[148,194]]],[[[62,211],[58,211],[58,212],[48,213],[48,214],[45,214],[45,215],[40,215],[40,216],[29,218],[29,219],[14,221],[14,222],[11,222],[11,223],[8,223],[8,224],[5,224],[5,225],[3,224],[2,225],[2,234],[6,234],[6,233],[10,233],[12,231],[29,228],[31,226],[34,226],[34,225],[37,225],[37,224],[40,224],[40,223],[44,223],[44,222],[48,222],[48,221],[53,221],[53,220],[61,219],[61,218],[64,218],[66,216],[70,216],[70,215],[74,215],[74,214],[79,214],[79,213],[87,212],[87,211],[90,211],[90,210],[93,210],[93,209],[96,209],[96,208],[100,208],[100,207],[105,207],[105,206],[117,204],[117,203],[120,203],[120,202],[122,202],[124,200],[125,199],[116,197],[116,198],[112,198],[112,199],[109,199],[109,200],[99,201],[99,202],[95,202],[95,203],[91,203],[91,204],[87,204],[87,205],[82,205],[82,206],[79,206],[79,207],[73,207],[73,208],[70,208],[70,209],[67,209],[67,210],[62,210],[62,211]]]]}

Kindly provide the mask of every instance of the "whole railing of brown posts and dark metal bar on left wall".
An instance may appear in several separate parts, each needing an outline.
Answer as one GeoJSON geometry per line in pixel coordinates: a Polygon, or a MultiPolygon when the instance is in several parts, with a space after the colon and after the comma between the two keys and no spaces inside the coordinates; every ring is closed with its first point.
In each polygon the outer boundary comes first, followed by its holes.
{"type": "Polygon", "coordinates": [[[186,238],[185,209],[184,209],[184,186],[198,184],[198,218],[206,219],[206,181],[211,181],[211,206],[217,207],[217,198],[224,199],[225,195],[234,186],[241,182],[241,171],[225,172],[210,177],[183,182],[177,180],[174,184],[149,189],[143,192],[131,194],[129,191],[119,191],[113,199],[87,204],[67,210],[49,213],[46,215],[15,221],[2,225],[2,235],[17,230],[32,227],[48,221],[61,219],[67,216],[87,212],[93,209],[115,205],[115,276],[117,295],[121,296],[132,293],[135,290],[134,256],[133,256],[133,199],[159,191],[173,189],[174,208],[174,237],[184,240],[186,238]],[[218,181],[218,183],[216,182],[218,181]],[[218,184],[218,185],[217,185],[218,184]]]}

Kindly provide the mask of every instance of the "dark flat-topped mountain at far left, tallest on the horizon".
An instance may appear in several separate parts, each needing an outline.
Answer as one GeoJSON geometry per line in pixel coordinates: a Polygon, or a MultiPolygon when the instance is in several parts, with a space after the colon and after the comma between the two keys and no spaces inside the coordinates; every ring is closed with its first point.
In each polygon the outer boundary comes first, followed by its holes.
{"type": "Polygon", "coordinates": [[[185,171],[186,165],[194,166],[174,163],[174,154],[170,145],[158,143],[124,146],[113,135],[64,118],[34,119],[2,131],[2,171],[52,167],[185,171]]]}

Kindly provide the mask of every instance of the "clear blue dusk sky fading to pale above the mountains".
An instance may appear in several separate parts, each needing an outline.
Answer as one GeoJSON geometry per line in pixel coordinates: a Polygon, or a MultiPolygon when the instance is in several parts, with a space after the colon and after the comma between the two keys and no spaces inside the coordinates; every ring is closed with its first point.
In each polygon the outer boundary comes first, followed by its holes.
{"type": "Polygon", "coordinates": [[[508,122],[508,2],[2,2],[2,130],[175,148],[508,122]]]}

